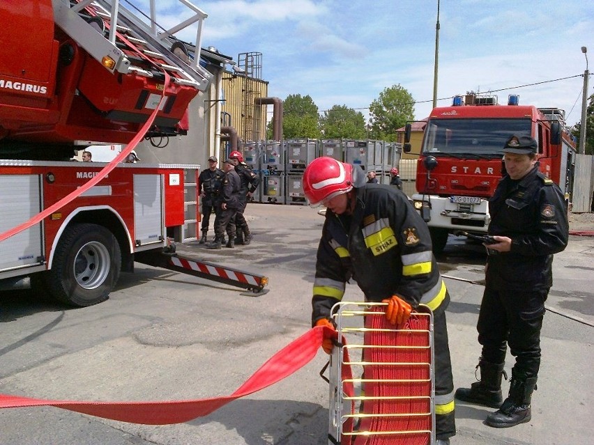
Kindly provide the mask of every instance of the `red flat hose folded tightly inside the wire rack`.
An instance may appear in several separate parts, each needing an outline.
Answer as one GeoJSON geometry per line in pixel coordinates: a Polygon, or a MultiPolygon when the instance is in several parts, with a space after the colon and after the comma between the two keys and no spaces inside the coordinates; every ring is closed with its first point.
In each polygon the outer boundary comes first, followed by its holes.
{"type": "MultiPolygon", "coordinates": [[[[429,445],[432,431],[430,318],[411,315],[402,329],[383,309],[365,317],[363,416],[353,445],[429,445]],[[373,348],[380,345],[382,348],[373,348]],[[390,346],[386,348],[386,346],[390,346]]],[[[346,361],[346,359],[345,359],[346,361]]],[[[350,427],[349,427],[350,428],[350,427]]],[[[343,432],[350,432],[343,428],[343,432]]],[[[351,442],[344,441],[342,444],[351,442]]]]}

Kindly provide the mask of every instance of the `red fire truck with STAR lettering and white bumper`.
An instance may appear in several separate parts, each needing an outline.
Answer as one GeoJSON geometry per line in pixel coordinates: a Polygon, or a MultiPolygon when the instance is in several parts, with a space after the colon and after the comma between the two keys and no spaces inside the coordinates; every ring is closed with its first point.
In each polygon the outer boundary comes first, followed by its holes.
{"type": "MultiPolygon", "coordinates": [[[[410,124],[404,151],[410,151],[410,124]]],[[[494,95],[455,96],[451,107],[436,107],[427,120],[417,162],[415,208],[431,231],[434,252],[449,233],[485,233],[488,199],[503,174],[503,146],[512,135],[538,141],[540,171],[568,196],[572,189],[575,143],[565,131],[565,112],[520,105],[519,96],[498,104],[494,95]]]]}

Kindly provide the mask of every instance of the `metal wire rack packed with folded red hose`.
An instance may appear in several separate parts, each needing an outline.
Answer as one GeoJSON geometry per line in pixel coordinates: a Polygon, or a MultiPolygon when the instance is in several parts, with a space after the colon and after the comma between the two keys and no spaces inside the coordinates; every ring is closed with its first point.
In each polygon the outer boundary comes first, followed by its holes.
{"type": "Polygon", "coordinates": [[[386,306],[333,306],[338,336],[320,373],[330,384],[328,445],[435,443],[432,311],[420,305],[398,327],[386,306]]]}

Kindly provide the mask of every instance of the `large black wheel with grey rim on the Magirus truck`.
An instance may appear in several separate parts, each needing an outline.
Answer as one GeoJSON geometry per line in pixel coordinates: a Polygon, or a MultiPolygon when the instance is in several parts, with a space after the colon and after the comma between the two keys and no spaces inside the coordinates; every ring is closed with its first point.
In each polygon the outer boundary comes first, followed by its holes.
{"type": "Polygon", "coordinates": [[[121,250],[114,235],[97,224],[75,224],[60,237],[45,278],[54,299],[86,307],[109,298],[120,269],[121,250]]]}

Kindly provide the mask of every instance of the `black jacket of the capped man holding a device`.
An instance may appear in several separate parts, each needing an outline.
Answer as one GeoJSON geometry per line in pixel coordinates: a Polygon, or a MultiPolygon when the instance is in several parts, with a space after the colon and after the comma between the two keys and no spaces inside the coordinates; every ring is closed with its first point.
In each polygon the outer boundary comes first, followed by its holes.
{"type": "Polygon", "coordinates": [[[489,235],[510,237],[512,249],[489,255],[487,286],[501,290],[549,289],[553,284],[553,254],[563,251],[569,238],[561,189],[537,167],[518,181],[504,176],[489,199],[489,213],[489,235]]]}

